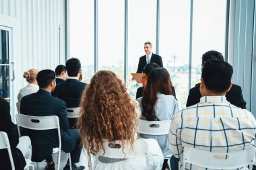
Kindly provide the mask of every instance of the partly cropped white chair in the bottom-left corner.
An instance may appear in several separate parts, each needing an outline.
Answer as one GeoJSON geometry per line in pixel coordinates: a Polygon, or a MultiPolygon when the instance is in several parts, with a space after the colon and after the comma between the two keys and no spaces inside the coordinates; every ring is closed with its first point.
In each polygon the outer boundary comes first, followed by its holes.
{"type": "MultiPolygon", "coordinates": [[[[0,132],[0,149],[3,149],[3,148],[7,148],[10,163],[11,163],[11,169],[15,170],[14,163],[13,163],[13,157],[11,155],[11,146],[9,144],[8,136],[5,132],[0,132]]],[[[32,170],[34,170],[34,166],[32,165],[31,160],[26,159],[25,161],[26,161],[26,166],[24,167],[24,169],[32,167],[32,170]]]]}

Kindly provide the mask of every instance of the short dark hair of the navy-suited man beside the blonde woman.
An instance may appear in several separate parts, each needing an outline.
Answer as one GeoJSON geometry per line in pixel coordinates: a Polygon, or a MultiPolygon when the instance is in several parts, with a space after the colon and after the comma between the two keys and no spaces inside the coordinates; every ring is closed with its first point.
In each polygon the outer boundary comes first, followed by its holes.
{"type": "Polygon", "coordinates": [[[55,72],[52,70],[39,71],[36,80],[40,88],[46,88],[50,85],[51,81],[55,79],[55,72]]]}

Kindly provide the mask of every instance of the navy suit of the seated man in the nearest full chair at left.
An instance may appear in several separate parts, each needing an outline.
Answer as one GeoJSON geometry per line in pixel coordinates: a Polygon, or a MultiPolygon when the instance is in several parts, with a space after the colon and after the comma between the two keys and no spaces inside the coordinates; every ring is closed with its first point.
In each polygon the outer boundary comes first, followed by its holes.
{"type": "MultiPolygon", "coordinates": [[[[69,122],[65,102],[53,97],[48,91],[39,89],[38,92],[22,98],[20,113],[29,116],[58,116],[61,128],[61,141],[71,139],[67,132],[69,122]]],[[[32,142],[32,161],[42,161],[53,153],[53,146],[59,146],[57,130],[24,130],[32,142]]]]}

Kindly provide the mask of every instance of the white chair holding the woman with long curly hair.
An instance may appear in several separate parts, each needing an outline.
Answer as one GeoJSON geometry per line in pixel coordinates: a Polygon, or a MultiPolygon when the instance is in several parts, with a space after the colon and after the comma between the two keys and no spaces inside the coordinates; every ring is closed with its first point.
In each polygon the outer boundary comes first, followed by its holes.
{"type": "MultiPolygon", "coordinates": [[[[146,167],[147,169],[149,169],[148,143],[145,139],[138,138],[134,140],[133,148],[131,148],[131,144],[127,140],[125,140],[124,148],[111,148],[110,146],[108,146],[109,143],[121,144],[121,141],[115,140],[115,142],[108,142],[105,139],[103,142],[105,152],[103,150],[100,150],[96,155],[113,159],[131,159],[136,157],[145,157],[146,167]]],[[[89,169],[92,170],[91,161],[89,161],[89,169]]]]}

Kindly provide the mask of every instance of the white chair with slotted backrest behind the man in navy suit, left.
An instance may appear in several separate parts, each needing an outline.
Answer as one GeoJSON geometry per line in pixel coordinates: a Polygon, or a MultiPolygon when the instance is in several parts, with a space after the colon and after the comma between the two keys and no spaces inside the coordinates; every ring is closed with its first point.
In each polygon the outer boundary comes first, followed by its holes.
{"type": "MultiPolygon", "coordinates": [[[[58,154],[58,170],[61,164],[61,132],[59,126],[59,118],[58,116],[27,116],[23,114],[16,114],[16,122],[18,126],[18,132],[20,136],[20,127],[28,128],[32,130],[50,130],[57,129],[58,130],[58,138],[59,138],[59,147],[53,148],[53,153],[58,154]]],[[[38,168],[38,163],[37,168],[38,168]]],[[[71,157],[69,153],[69,165],[71,165],[71,157]]],[[[70,166],[71,170],[71,166],[70,166]]]]}

